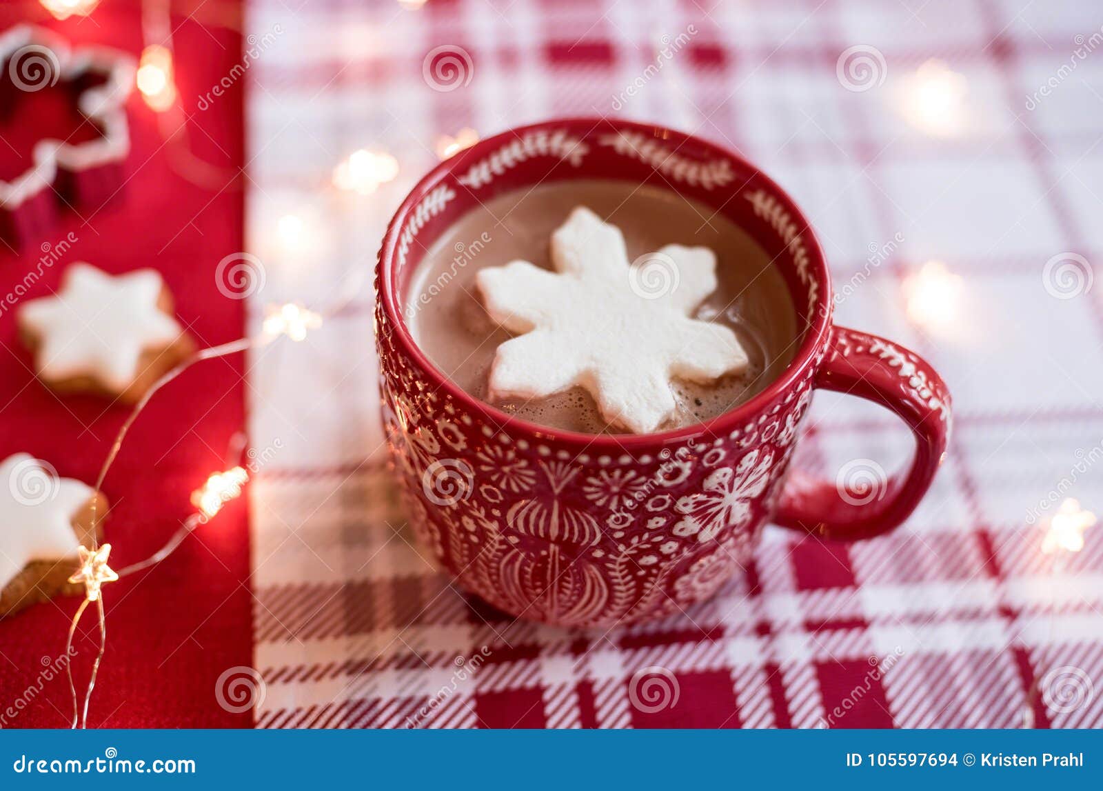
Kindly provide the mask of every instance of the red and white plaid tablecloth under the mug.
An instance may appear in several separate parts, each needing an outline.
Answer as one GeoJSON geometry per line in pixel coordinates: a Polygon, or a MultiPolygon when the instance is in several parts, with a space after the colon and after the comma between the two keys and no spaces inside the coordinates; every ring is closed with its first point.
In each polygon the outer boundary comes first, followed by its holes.
{"type": "MultiPolygon", "coordinates": [[[[416,4],[248,4],[250,35],[269,42],[247,103],[248,237],[268,272],[255,321],[264,302],[324,304],[366,276],[441,136],[618,113],[738,150],[793,193],[836,282],[854,286],[838,321],[945,376],[952,452],[895,534],[769,531],[746,576],[687,616],[608,633],[514,622],[438,574],[390,504],[362,288],[342,318],[250,367],[254,445],[282,446],[250,492],[257,725],[1103,725],[1103,530],[1078,554],[1041,551],[1051,491],[1103,512],[1103,288],[1058,299],[1043,280],[1059,254],[1103,256],[1100,8],[416,4]],[[470,56],[469,84],[427,84],[424,57],[442,45],[470,56]],[[865,90],[837,74],[853,46],[884,57],[865,90]],[[909,114],[930,58],[964,96],[924,126],[909,114]],[[399,178],[366,196],[325,189],[358,148],[397,157],[399,178]],[[941,324],[910,321],[902,290],[932,259],[961,278],[941,324]],[[673,677],[674,705],[641,704],[646,669],[673,677]]],[[[834,475],[909,446],[886,413],[824,394],[797,463],[834,475]]]]}

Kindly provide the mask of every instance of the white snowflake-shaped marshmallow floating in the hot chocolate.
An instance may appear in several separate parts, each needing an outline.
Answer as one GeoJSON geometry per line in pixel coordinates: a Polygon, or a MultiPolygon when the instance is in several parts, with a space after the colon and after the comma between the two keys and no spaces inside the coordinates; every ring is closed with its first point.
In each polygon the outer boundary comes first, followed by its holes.
{"type": "Polygon", "coordinates": [[[716,289],[716,255],[682,245],[654,255],[675,268],[668,292],[633,284],[620,229],[579,206],[552,235],[554,272],[523,260],[480,270],[491,318],[521,334],[497,349],[491,397],[578,385],[606,420],[639,434],[673,415],[672,378],[708,383],[745,371],[735,332],[689,318],[716,289]]]}

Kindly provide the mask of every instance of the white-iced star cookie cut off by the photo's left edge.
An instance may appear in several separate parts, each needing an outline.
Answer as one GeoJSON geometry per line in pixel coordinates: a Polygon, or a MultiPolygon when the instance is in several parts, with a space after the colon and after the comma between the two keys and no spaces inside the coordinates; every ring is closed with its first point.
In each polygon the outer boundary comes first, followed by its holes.
{"type": "Polygon", "coordinates": [[[77,546],[90,546],[107,509],[92,487],[57,478],[28,453],[0,462],[0,618],[84,590],[68,582],[77,546]]]}

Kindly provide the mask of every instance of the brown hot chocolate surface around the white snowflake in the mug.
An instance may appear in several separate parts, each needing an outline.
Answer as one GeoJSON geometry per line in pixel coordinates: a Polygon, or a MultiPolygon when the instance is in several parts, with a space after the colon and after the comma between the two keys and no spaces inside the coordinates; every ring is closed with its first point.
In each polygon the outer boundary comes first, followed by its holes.
{"type": "Polygon", "coordinates": [[[676,271],[653,257],[677,244],[716,255],[717,286],[692,316],[730,328],[748,359],[739,374],[715,382],[671,383],[675,411],[661,430],[728,411],[762,391],[796,348],[789,290],[769,256],[741,228],[702,204],[652,186],[618,181],[570,181],[507,193],[470,211],[426,253],[407,291],[414,340],[449,378],[472,396],[526,420],[585,434],[623,431],[602,417],[593,397],[575,386],[540,398],[493,397],[490,373],[501,344],[513,338],[491,320],[476,274],[517,259],[550,269],[550,239],[578,206],[623,234],[640,269],[633,288],[672,287],[676,271]]]}

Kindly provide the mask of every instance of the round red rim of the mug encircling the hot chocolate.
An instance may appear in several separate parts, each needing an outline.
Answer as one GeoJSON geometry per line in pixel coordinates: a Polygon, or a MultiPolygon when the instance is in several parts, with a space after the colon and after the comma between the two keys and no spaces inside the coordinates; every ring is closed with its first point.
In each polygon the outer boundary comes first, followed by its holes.
{"type": "MultiPolygon", "coordinates": [[[[587,133],[589,133],[589,131],[587,133]]],[[[673,185],[670,186],[673,188],[673,185]]],[[[670,191],[677,193],[676,189],[671,189],[670,191]]],[[[771,259],[771,265],[777,266],[774,263],[777,258],[778,256],[774,256],[774,258],[771,259]]],[[[432,170],[426,173],[417,182],[417,184],[414,185],[398,209],[395,210],[394,215],[387,224],[387,229],[384,233],[383,243],[379,247],[376,272],[376,299],[379,300],[383,312],[392,325],[392,332],[403,348],[404,354],[411,357],[414,362],[418,364],[418,366],[431,380],[436,389],[443,389],[451,395],[452,398],[461,402],[464,409],[479,413],[488,423],[500,426],[503,429],[521,431],[529,436],[538,437],[545,442],[592,448],[597,452],[600,452],[601,450],[607,452],[618,452],[630,449],[653,448],[656,445],[686,440],[700,435],[710,435],[714,438],[727,436],[733,429],[746,424],[748,418],[759,414],[763,407],[768,407],[774,403],[780,395],[793,388],[797,381],[804,375],[807,367],[812,365],[817,350],[820,350],[827,342],[832,325],[832,307],[834,304],[834,295],[831,274],[827,269],[827,261],[824,258],[823,248],[820,245],[820,239],[816,236],[812,224],[808,222],[808,218],[804,215],[801,207],[795,201],[793,201],[792,196],[790,196],[789,192],[769,175],[763,173],[760,168],[751,163],[745,157],[741,157],[733,151],[729,151],[722,146],[718,146],[695,135],[671,129],[670,127],[661,124],[643,124],[620,118],[592,116],[549,118],[535,124],[511,127],[510,129],[499,132],[497,135],[484,138],[459,154],[438,163],[432,170]],[[421,199],[436,189],[446,177],[451,175],[457,170],[460,170],[460,165],[462,163],[476,158],[480,156],[480,152],[485,152],[488,149],[492,149],[503,142],[507,142],[510,139],[524,132],[535,131],[537,129],[547,129],[550,127],[561,127],[565,125],[588,125],[589,131],[592,131],[602,124],[609,125],[615,130],[630,129],[645,132],[647,135],[655,135],[656,132],[660,132],[662,139],[668,140],[674,137],[676,139],[681,139],[682,143],[692,141],[695,146],[698,146],[706,151],[719,157],[728,158],[733,162],[754,171],[758,179],[761,180],[761,183],[765,188],[772,191],[775,195],[782,197],[789,204],[795,221],[802,226],[802,233],[805,234],[808,260],[813,265],[813,268],[820,278],[821,288],[816,295],[814,308],[815,316],[812,318],[810,327],[805,330],[805,336],[801,341],[801,345],[797,348],[796,353],[793,355],[789,365],[785,366],[785,370],[782,371],[782,373],[770,382],[770,384],[768,384],[762,391],[739,406],[717,415],[714,418],[709,418],[708,420],[702,420],[700,423],[690,424],[688,426],[683,426],[682,428],[670,429],[666,431],[606,435],[583,434],[580,431],[552,428],[531,420],[525,420],[524,418],[520,418],[515,415],[510,415],[492,404],[488,404],[486,402],[470,395],[467,391],[462,389],[454,382],[452,382],[447,374],[440,371],[440,368],[431,360],[429,360],[429,357],[421,351],[420,346],[418,346],[409,331],[409,328],[406,325],[405,311],[401,310],[400,306],[398,306],[399,295],[396,293],[397,289],[392,288],[392,275],[395,260],[397,258],[395,252],[398,246],[399,231],[404,226],[407,216],[421,201],[421,199]]],[[[790,295],[790,298],[792,298],[792,295],[790,295]]],[[[379,328],[376,328],[376,332],[378,331],[379,328]]]]}

